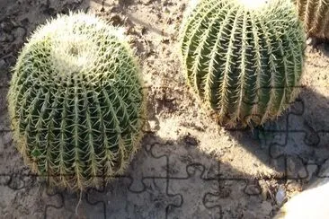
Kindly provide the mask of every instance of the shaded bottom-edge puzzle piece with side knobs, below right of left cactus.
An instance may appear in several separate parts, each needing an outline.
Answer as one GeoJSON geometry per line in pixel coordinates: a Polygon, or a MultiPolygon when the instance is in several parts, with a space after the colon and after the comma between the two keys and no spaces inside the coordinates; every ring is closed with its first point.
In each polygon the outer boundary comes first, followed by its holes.
{"type": "Polygon", "coordinates": [[[144,179],[146,189],[141,192],[130,191],[129,184],[128,178],[114,180],[102,190],[91,190],[87,201],[103,203],[106,218],[167,218],[173,206],[181,205],[179,196],[168,195],[165,179],[144,179]]]}

